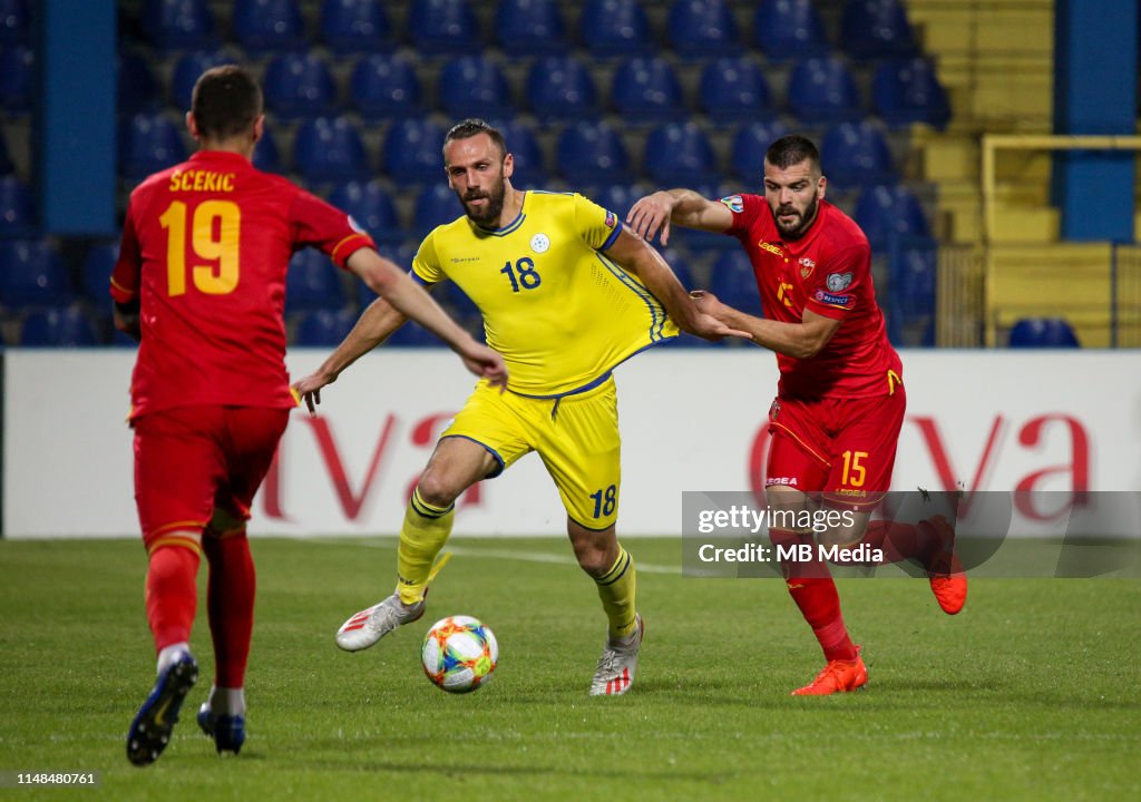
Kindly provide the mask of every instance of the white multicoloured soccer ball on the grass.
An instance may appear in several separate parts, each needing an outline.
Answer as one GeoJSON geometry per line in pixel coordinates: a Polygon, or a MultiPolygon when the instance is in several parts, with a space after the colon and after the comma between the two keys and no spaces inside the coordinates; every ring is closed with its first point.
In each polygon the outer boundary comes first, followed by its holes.
{"type": "Polygon", "coordinates": [[[487,683],[499,663],[491,627],[470,615],[437,621],[420,647],[424,674],[450,694],[467,694],[487,683]]]}

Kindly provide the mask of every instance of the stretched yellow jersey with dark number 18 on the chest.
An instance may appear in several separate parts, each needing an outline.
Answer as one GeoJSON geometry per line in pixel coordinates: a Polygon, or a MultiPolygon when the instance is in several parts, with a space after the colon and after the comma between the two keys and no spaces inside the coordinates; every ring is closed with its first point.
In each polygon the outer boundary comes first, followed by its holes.
{"type": "Polygon", "coordinates": [[[607,258],[622,222],[582,195],[527,192],[497,230],[467,216],[421,243],[413,274],[451,278],[484,317],[508,389],[553,398],[581,391],[633,354],[677,337],[662,303],[607,258]]]}

